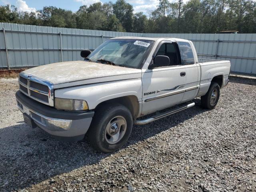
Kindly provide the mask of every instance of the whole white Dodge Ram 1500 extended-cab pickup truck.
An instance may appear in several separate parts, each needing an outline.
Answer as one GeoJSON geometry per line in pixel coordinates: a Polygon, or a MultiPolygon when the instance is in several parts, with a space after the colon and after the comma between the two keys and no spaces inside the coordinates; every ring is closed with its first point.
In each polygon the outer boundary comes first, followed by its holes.
{"type": "Polygon", "coordinates": [[[230,74],[229,61],[198,59],[178,38],[112,38],[81,56],[21,72],[17,104],[32,128],[70,141],[88,132],[102,152],[122,147],[133,124],[192,107],[196,97],[213,109],[230,74]]]}

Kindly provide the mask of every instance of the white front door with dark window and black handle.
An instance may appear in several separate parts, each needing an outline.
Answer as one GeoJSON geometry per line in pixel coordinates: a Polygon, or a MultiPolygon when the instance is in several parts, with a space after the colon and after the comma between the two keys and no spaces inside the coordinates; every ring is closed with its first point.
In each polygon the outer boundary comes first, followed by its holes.
{"type": "Polygon", "coordinates": [[[181,103],[185,92],[187,66],[180,64],[178,45],[164,40],[158,45],[156,55],[168,56],[170,64],[147,69],[142,74],[142,115],[181,103]]]}

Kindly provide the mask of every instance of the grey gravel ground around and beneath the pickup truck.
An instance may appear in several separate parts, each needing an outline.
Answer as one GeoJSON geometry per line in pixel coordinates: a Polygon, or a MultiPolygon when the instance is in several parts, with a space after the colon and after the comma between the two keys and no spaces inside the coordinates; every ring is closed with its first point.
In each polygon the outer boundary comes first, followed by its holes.
{"type": "Polygon", "coordinates": [[[0,191],[256,191],[256,80],[230,80],[214,110],[197,98],[103,154],[29,128],[1,79],[0,191]]]}

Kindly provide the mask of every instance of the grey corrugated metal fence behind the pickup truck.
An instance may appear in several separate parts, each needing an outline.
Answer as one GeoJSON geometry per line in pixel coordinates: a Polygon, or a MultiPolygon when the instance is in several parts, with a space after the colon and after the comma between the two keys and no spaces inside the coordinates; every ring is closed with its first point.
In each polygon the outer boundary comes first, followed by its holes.
{"type": "Polygon", "coordinates": [[[0,68],[22,68],[83,60],[115,36],[175,37],[192,40],[199,57],[230,60],[231,71],[256,74],[256,34],[142,34],[0,23],[0,68]]]}

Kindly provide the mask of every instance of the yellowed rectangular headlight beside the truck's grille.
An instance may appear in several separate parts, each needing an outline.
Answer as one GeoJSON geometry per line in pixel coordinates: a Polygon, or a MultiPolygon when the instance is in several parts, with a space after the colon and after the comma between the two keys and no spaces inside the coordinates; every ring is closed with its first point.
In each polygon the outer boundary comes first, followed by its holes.
{"type": "Polygon", "coordinates": [[[78,99],[62,99],[62,98],[55,98],[54,100],[55,108],[56,109],[62,109],[62,110],[76,110],[76,111],[82,111],[82,110],[88,110],[87,102],[84,100],[78,100],[78,99]]]}

